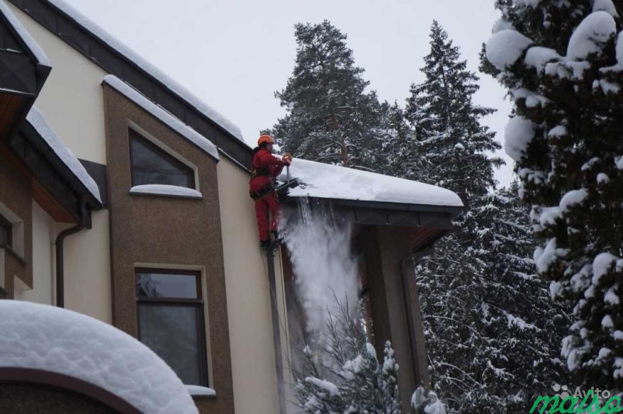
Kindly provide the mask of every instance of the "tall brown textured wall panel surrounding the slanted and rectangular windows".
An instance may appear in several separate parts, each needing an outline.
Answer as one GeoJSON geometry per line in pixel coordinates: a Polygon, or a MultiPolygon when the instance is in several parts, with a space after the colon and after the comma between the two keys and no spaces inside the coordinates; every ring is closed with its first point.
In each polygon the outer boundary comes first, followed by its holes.
{"type": "Polygon", "coordinates": [[[113,324],[136,336],[136,262],[205,266],[211,386],[201,413],[233,413],[231,355],[216,160],[104,84],[113,324]],[[197,166],[202,200],[130,195],[128,120],[197,166]]]}

